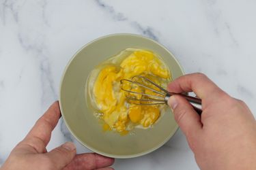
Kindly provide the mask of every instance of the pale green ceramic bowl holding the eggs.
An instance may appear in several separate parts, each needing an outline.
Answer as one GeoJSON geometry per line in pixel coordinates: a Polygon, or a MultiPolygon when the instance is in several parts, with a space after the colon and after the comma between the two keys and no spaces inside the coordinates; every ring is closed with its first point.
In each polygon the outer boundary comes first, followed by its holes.
{"type": "Polygon", "coordinates": [[[61,113],[72,135],[90,150],[113,158],[150,153],[167,142],[178,128],[168,109],[153,128],[134,129],[133,135],[102,131],[102,125],[87,105],[87,77],[96,65],[126,48],[152,50],[167,63],[173,78],[184,74],[173,54],[158,42],[141,35],[114,34],[100,37],[76,52],[63,73],[60,86],[61,113]]]}

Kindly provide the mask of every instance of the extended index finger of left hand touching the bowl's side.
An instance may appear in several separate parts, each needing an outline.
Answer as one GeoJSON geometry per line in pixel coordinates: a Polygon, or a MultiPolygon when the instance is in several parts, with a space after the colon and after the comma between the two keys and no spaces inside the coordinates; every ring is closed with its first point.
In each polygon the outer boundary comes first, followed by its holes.
{"type": "Polygon", "coordinates": [[[51,139],[51,132],[55,129],[60,116],[59,102],[55,101],[44,115],[38,119],[21,143],[27,143],[35,149],[35,152],[46,152],[45,148],[51,139]]]}

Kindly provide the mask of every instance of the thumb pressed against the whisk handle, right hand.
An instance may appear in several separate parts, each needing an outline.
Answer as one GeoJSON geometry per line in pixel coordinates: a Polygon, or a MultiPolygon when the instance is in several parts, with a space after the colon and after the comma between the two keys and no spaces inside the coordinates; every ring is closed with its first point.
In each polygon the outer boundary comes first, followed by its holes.
{"type": "Polygon", "coordinates": [[[173,95],[169,98],[168,105],[173,109],[174,118],[180,129],[190,141],[201,131],[201,118],[192,105],[184,97],[173,95]]]}

